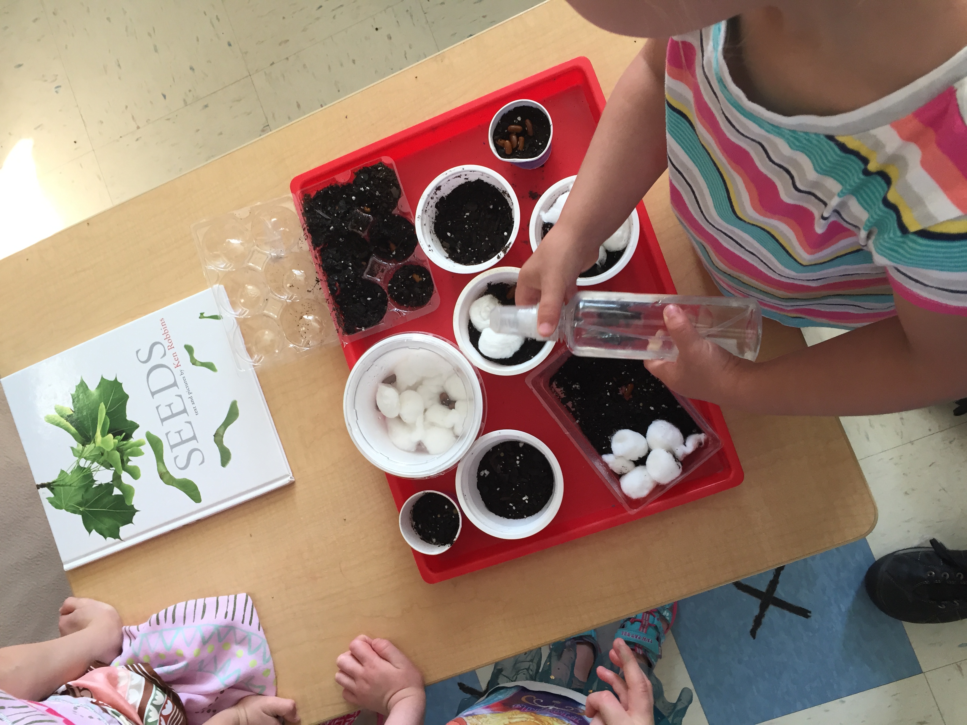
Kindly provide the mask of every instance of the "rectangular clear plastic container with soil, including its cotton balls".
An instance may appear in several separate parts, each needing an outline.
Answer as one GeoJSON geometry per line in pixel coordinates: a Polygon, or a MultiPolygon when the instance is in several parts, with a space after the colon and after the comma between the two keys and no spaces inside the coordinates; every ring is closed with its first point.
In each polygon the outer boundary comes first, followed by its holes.
{"type": "Polygon", "coordinates": [[[565,349],[528,375],[527,385],[630,513],[689,478],[722,447],[695,406],[639,360],[581,358],[565,349]],[[653,429],[656,421],[664,424],[653,429]]]}

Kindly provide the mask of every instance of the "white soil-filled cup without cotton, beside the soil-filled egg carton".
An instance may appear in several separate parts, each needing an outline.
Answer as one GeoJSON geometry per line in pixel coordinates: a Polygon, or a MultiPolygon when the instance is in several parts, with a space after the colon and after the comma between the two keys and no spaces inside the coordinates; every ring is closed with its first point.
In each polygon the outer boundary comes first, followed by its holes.
{"type": "Polygon", "coordinates": [[[417,238],[447,272],[476,275],[499,262],[520,227],[507,180],[485,166],[455,166],[429,183],[416,212],[417,238]]]}

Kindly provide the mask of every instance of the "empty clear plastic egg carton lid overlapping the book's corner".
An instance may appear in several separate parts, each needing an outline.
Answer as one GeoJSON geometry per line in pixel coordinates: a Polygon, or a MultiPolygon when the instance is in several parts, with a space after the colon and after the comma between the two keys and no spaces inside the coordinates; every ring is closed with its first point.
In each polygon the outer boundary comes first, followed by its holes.
{"type": "Polygon", "coordinates": [[[291,196],[197,221],[191,233],[240,369],[338,341],[291,196]]]}

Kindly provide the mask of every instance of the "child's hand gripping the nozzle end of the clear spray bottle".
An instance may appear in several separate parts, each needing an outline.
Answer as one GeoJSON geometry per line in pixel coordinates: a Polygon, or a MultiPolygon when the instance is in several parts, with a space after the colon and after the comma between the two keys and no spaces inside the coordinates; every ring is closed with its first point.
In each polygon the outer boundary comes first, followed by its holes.
{"type": "Polygon", "coordinates": [[[561,307],[577,289],[577,275],[598,261],[597,247],[590,254],[571,239],[560,223],[547,232],[541,246],[524,262],[517,276],[516,303],[538,304],[538,333],[554,332],[561,319],[561,307]]]}

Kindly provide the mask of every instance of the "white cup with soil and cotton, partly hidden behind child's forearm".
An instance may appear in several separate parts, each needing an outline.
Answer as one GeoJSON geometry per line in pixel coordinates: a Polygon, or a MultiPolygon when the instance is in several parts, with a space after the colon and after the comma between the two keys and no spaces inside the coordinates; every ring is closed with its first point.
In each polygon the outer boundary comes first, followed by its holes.
{"type": "MultiPolygon", "coordinates": [[[[533,251],[537,251],[544,236],[560,217],[561,210],[568,200],[567,194],[571,193],[571,185],[576,178],[576,176],[569,176],[567,179],[562,179],[544,191],[538,199],[528,227],[533,251]]],[[[625,219],[622,225],[604,241],[598,251],[598,261],[577,277],[577,285],[589,287],[601,284],[625,269],[631,255],[634,254],[634,249],[638,246],[640,235],[641,222],[638,219],[637,210],[634,210],[630,217],[625,219]]]]}

